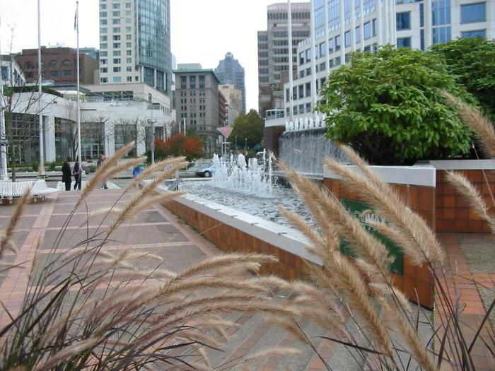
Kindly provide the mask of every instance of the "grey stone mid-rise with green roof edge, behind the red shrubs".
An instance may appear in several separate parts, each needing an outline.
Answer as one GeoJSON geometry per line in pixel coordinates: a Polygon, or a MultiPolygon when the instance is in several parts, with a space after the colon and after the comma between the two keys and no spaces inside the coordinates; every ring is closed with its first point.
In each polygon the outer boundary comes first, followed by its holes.
{"type": "MultiPolygon", "coordinates": [[[[175,73],[175,121],[202,136],[204,152],[218,148],[220,117],[219,79],[212,69],[199,64],[179,64],[175,73]],[[198,68],[199,67],[199,68],[198,68]]],[[[225,105],[225,103],[224,103],[225,105]]]]}

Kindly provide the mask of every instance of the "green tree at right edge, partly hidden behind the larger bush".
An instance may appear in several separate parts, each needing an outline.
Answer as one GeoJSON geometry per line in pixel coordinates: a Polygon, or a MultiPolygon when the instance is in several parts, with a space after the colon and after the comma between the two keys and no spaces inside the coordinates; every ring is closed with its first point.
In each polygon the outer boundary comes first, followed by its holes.
{"type": "Polygon", "coordinates": [[[495,119],[495,40],[463,37],[433,45],[448,71],[457,76],[458,83],[474,95],[483,110],[495,119]]]}

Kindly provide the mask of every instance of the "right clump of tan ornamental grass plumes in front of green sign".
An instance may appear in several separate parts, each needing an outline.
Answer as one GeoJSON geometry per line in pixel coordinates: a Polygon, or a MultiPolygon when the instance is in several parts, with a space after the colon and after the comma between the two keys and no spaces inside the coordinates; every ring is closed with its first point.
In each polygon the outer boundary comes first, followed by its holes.
{"type": "MultiPolygon", "coordinates": [[[[293,304],[301,317],[334,334],[324,338],[356,352],[365,370],[475,370],[471,354],[473,344],[479,339],[495,301],[479,328],[464,326],[462,303],[445,286],[444,252],[434,232],[365,160],[347,146],[342,146],[342,150],[354,162],[357,171],[331,159],[325,164],[339,175],[342,184],[367,201],[372,211],[365,211],[363,215],[373,212],[377,218],[367,219],[365,228],[325,187],[281,165],[313,214],[317,227],[308,227],[305,220],[291,211],[284,208],[281,211],[307,237],[308,251],[322,260],[321,266],[308,264],[314,288],[292,284],[293,304]],[[421,314],[419,319],[421,308],[412,310],[406,295],[395,287],[389,269],[394,257],[369,227],[395,242],[412,264],[429,269],[437,302],[443,307],[435,324],[428,314],[421,314]],[[346,242],[345,250],[341,249],[341,242],[346,242]],[[351,254],[344,254],[346,250],[351,254]],[[419,336],[421,322],[431,327],[431,338],[419,336]],[[434,351],[433,343],[437,344],[434,351]]],[[[448,179],[493,228],[494,217],[472,184],[456,173],[450,173],[448,179]]],[[[286,329],[290,330],[291,326],[286,329]]],[[[292,331],[301,337],[296,329],[292,331]]],[[[479,341],[490,349],[495,347],[494,339],[490,332],[479,341]]]]}

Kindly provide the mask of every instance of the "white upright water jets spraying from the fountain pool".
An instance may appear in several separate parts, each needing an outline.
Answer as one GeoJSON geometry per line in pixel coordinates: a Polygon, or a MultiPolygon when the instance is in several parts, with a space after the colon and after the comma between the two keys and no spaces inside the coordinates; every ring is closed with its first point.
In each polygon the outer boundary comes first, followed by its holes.
{"type": "Polygon", "coordinates": [[[267,159],[263,152],[263,163],[260,165],[256,158],[250,158],[248,167],[238,166],[231,154],[228,161],[214,155],[214,174],[211,185],[221,189],[228,189],[245,195],[270,197],[273,193],[272,158],[267,159]]]}

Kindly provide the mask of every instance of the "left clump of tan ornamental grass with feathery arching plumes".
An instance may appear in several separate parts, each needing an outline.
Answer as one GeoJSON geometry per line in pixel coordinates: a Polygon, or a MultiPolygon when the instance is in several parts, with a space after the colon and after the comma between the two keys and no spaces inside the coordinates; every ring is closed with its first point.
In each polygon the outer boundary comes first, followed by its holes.
{"type": "MultiPolygon", "coordinates": [[[[161,195],[156,189],[185,165],[183,158],[149,167],[139,181],[152,179],[139,192],[120,209],[94,213],[101,216],[99,227],[86,225],[84,240],[64,245],[71,218],[86,197],[129,163],[143,160],[119,164],[133,146],[129,143],[103,163],[53,245],[43,250],[44,258],[35,256],[21,310],[0,327],[1,370],[209,370],[204,349],[222,346],[228,340],[226,329],[233,326],[223,319],[225,314],[254,312],[286,322],[298,316],[297,305],[272,300],[268,284],[281,280],[249,274],[276,261],[274,257],[226,254],[171,272],[163,269],[163,257],[151,252],[103,249],[124,220],[182,194],[161,195]],[[110,228],[101,228],[107,224],[110,228]]],[[[11,216],[0,263],[28,199],[25,194],[11,216]]],[[[270,354],[284,353],[291,351],[270,354]]]]}

